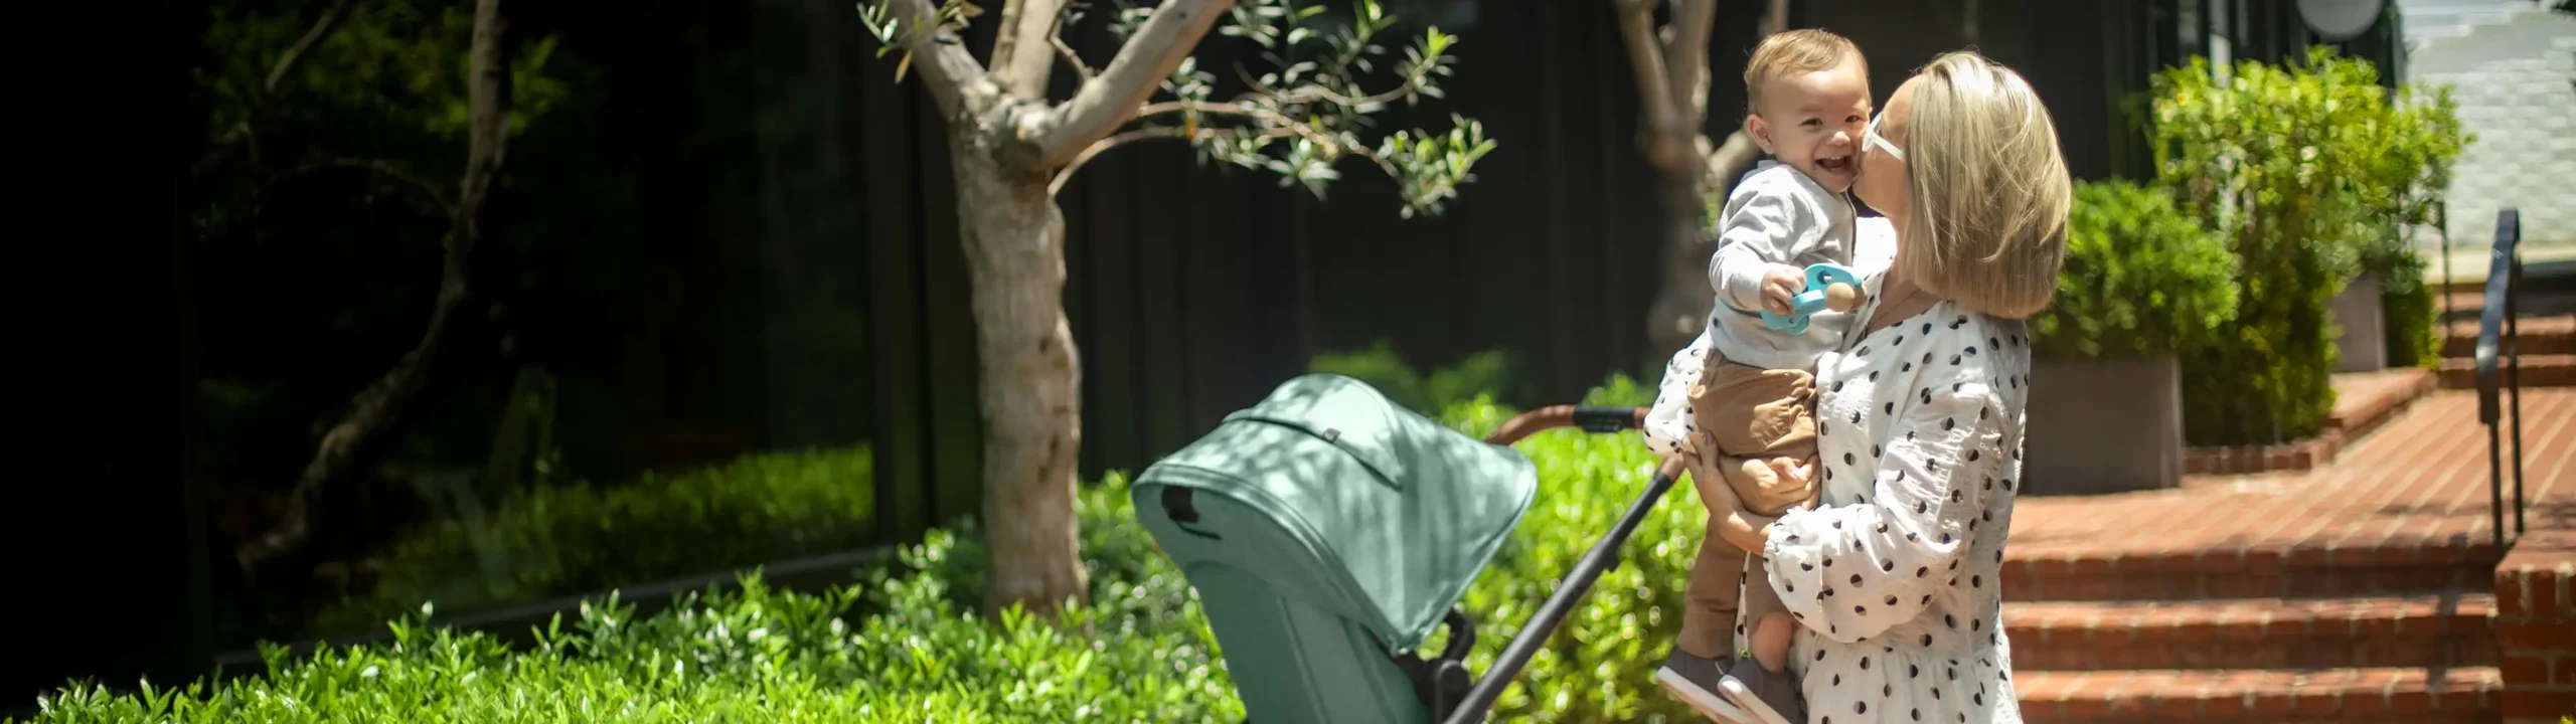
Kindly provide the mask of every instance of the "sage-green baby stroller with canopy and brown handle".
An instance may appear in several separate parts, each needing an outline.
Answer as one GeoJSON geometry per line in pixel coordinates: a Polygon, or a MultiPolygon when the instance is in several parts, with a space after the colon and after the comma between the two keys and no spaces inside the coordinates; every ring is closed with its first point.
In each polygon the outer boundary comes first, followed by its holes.
{"type": "Polygon", "coordinates": [[[1654,474],[1479,680],[1466,670],[1476,624],[1455,605],[1538,487],[1538,466],[1510,446],[1643,417],[1558,405],[1476,441],[1358,379],[1309,374],[1149,466],[1131,495],[1198,587],[1247,721],[1468,724],[1618,567],[1620,544],[1680,477],[1674,461],[1654,474]],[[1437,626],[1450,629],[1448,647],[1417,654],[1437,626]]]}

